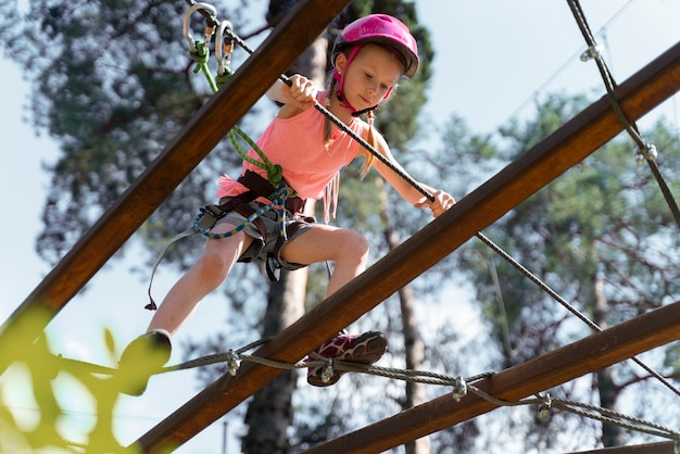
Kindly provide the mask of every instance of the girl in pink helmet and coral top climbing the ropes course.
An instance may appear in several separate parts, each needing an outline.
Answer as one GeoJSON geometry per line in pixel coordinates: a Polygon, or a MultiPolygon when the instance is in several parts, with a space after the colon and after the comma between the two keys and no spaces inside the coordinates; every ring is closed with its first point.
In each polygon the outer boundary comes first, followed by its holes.
{"type": "MultiPolygon", "coordinates": [[[[171,289],[151,320],[148,332],[133,341],[123,353],[121,374],[129,379],[129,389],[124,392],[138,395],[143,392],[152,373],[144,374],[135,363],[146,364],[149,370],[165,364],[171,354],[169,336],[191,315],[203,297],[226,279],[236,262],[261,258],[267,261],[270,267],[284,269],[333,262],[327,295],[364,270],[368,243],[361,234],[317,224],[313,217],[302,215],[305,199],[323,199],[325,218],[328,219],[331,205],[335,210],[339,171],[355,157],[365,159],[364,175],[372,166],[375,167],[407,202],[416,207],[429,209],[435,216],[455,203],[450,194],[423,185],[435,197],[430,201],[398,175],[393,168],[403,172],[402,167],[392,156],[383,137],[373,127],[373,111],[390,94],[402,76],[412,77],[418,67],[416,40],[408,28],[386,14],[362,17],[338,36],[331,59],[333,72],[328,91],[317,91],[310,79],[295,75],[290,78],[290,86],[277,83],[267,93],[284,105],[257,146],[272,163],[281,167],[285,181],[298,196],[287,203],[288,240],[281,241],[277,215],[272,211],[234,236],[207,239],[203,255],[171,289]],[[350,135],[331,124],[316,109],[311,109],[317,102],[325,104],[349,129],[370,143],[393,168],[375,160],[350,135]],[[360,118],[364,113],[368,122],[360,118]],[[136,380],[143,384],[135,388],[131,383],[136,380]]],[[[253,150],[249,155],[257,160],[253,150]]],[[[266,197],[273,192],[266,172],[248,161],[243,162],[243,172],[238,179],[224,176],[218,184],[221,211],[226,214],[214,223],[213,234],[228,232],[244,224],[244,219],[262,203],[268,203],[266,197]]],[[[373,364],[386,349],[387,340],[381,332],[340,332],[315,353],[324,357],[373,364]]],[[[323,380],[320,369],[310,368],[307,381],[311,384],[332,384],[342,374],[337,371],[330,380],[323,380]]]]}

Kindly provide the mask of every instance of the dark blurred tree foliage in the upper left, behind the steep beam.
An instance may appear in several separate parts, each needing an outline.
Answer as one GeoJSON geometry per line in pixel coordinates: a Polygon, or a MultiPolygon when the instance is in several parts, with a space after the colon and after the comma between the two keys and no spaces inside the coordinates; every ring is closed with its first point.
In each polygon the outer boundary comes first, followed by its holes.
{"type": "MultiPolygon", "coordinates": [[[[54,263],[211,93],[191,73],[181,37],[182,2],[40,0],[30,7],[22,16],[16,4],[3,5],[12,21],[3,22],[0,36],[5,50],[37,80],[36,126],[61,144],[61,155],[48,168],[51,191],[37,245],[54,263]]],[[[231,154],[228,147],[219,147],[156,211],[153,228],[141,231],[151,245],[184,230],[199,206],[213,202],[206,191],[217,175],[236,165],[231,154]]],[[[187,251],[179,245],[169,260],[190,262],[187,251]]]]}

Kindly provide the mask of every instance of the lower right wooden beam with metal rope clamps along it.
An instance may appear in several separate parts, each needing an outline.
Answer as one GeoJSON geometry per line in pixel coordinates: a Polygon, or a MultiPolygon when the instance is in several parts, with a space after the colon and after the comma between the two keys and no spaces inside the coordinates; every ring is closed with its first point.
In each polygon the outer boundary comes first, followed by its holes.
{"type": "MultiPolygon", "coordinates": [[[[475,386],[494,398],[518,401],[678,340],[679,324],[680,302],[676,302],[511,367],[475,386]]],[[[443,395],[305,453],[379,453],[494,408],[496,404],[471,392],[459,403],[451,395],[443,395]]]]}

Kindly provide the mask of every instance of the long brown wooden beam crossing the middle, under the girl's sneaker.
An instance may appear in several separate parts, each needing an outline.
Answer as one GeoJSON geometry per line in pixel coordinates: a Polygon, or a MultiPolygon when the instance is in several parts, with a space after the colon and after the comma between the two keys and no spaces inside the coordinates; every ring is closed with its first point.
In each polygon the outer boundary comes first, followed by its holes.
{"type": "MultiPolygon", "coordinates": [[[[680,43],[622,84],[617,97],[629,117],[639,118],[679,89],[680,43]]],[[[299,361],[621,130],[608,99],[599,100],[255,354],[287,363],[299,361]]],[[[163,452],[181,444],[280,374],[281,369],[247,363],[236,377],[225,375],[205,388],[136,444],[143,452],[163,452]]]]}

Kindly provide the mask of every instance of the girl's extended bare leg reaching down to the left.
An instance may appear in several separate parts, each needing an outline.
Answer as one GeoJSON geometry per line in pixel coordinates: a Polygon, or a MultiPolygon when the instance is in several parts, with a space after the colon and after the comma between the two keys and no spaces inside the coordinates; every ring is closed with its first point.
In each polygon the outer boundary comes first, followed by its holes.
{"type": "MultiPolygon", "coordinates": [[[[232,228],[230,224],[219,224],[213,231],[219,234],[232,228]]],[[[149,330],[164,329],[171,335],[176,332],[196,311],[201,300],[224,282],[238,257],[251,242],[252,238],[243,232],[221,240],[209,239],[203,255],[175,283],[161,303],[149,325],[149,330]]]]}

